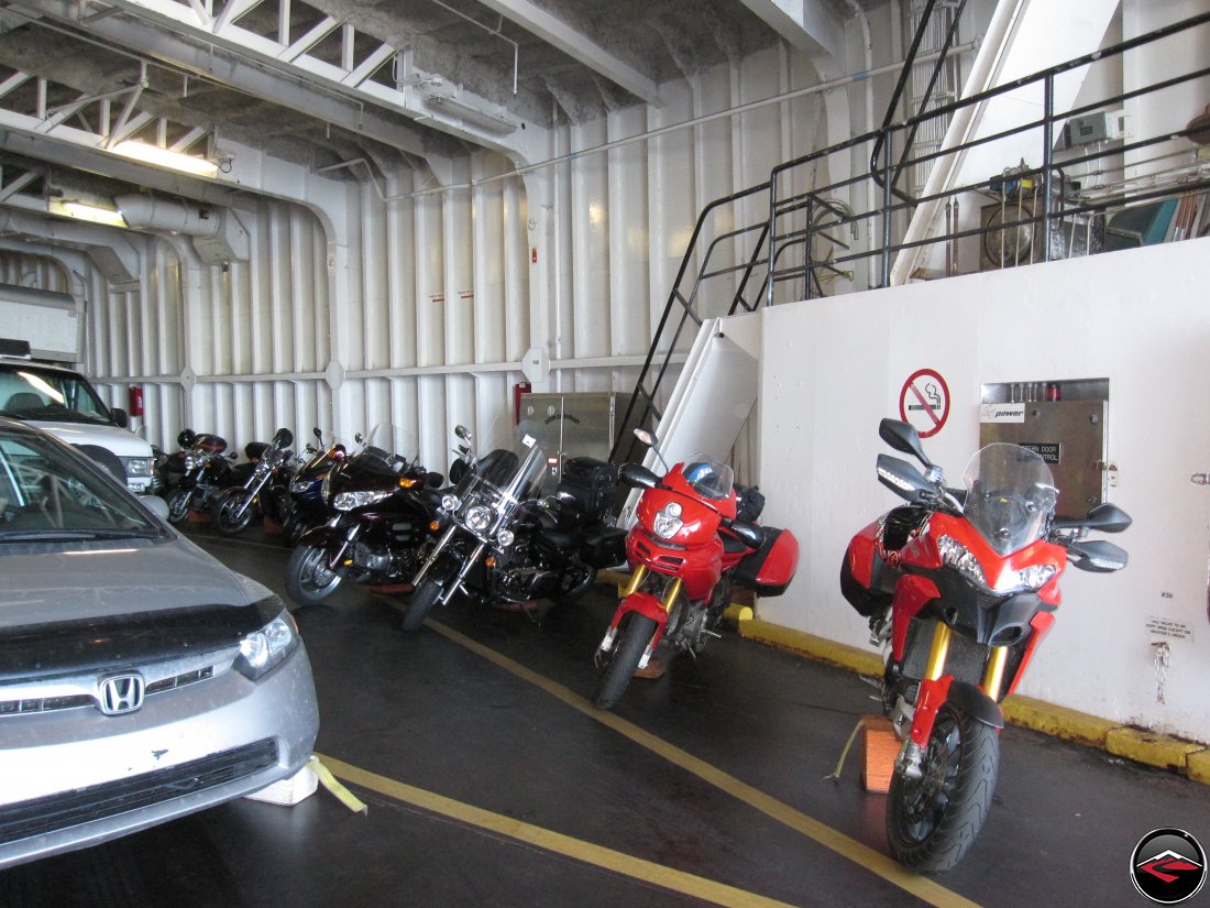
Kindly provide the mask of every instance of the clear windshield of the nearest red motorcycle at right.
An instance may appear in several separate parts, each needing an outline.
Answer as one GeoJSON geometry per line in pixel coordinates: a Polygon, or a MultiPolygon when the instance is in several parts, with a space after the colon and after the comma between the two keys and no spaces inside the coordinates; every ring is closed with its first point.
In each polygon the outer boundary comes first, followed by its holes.
{"type": "Polygon", "coordinates": [[[976,452],[963,476],[963,513],[998,554],[1039,539],[1054,515],[1059,490],[1036,452],[997,442],[976,452]]]}

